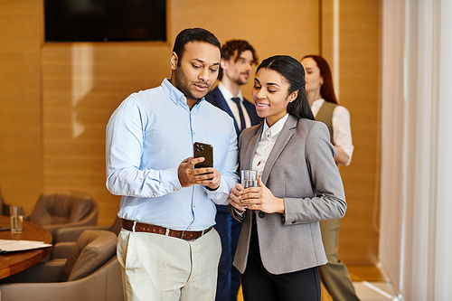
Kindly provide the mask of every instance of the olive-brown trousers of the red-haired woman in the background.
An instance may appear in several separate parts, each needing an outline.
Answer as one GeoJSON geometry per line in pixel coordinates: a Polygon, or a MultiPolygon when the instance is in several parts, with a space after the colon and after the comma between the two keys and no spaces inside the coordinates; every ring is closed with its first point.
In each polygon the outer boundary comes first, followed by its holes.
{"type": "Polygon", "coordinates": [[[352,279],[344,263],[337,258],[339,249],[339,225],[341,220],[320,221],[328,263],[318,267],[320,279],[334,301],[359,300],[354,292],[352,279]]]}

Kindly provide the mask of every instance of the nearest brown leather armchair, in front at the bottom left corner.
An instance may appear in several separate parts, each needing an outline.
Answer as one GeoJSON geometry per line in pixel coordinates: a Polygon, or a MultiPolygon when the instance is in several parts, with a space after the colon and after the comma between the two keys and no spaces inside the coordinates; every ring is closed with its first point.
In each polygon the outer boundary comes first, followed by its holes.
{"type": "Polygon", "coordinates": [[[39,263],[0,281],[5,300],[124,300],[117,237],[86,230],[67,259],[39,263]]]}

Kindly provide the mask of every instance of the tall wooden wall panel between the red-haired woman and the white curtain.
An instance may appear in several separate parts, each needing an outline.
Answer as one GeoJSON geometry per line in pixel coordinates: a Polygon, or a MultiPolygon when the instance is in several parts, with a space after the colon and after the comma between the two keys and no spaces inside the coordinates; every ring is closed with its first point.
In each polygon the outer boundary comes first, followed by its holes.
{"type": "Polygon", "coordinates": [[[334,83],[339,84],[340,103],[351,114],[355,147],[351,165],[340,168],[348,209],[339,255],[346,264],[375,265],[380,216],[380,1],[325,0],[323,5],[322,51],[338,75],[334,83]]]}

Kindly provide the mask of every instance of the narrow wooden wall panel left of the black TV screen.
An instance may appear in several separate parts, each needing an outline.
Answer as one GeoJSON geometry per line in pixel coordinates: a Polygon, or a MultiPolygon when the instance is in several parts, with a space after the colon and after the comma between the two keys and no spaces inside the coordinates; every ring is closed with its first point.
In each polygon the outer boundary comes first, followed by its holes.
{"type": "Polygon", "coordinates": [[[31,212],[42,189],[39,1],[0,3],[0,186],[31,212]]]}

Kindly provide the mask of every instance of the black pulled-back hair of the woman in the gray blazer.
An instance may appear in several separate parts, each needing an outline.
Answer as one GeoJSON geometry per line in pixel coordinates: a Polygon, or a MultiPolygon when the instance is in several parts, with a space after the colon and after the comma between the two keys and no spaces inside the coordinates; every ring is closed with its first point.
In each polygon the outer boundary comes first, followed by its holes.
{"type": "Polygon", "coordinates": [[[258,67],[260,69],[277,71],[288,83],[288,95],[298,90],[297,99],[287,105],[287,113],[296,118],[307,118],[315,120],[312,114],[305,90],[305,70],[299,61],[288,55],[275,55],[262,61],[258,67]]]}

